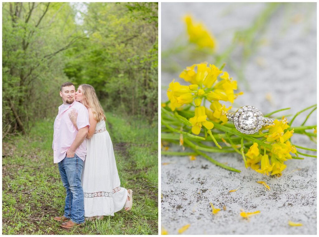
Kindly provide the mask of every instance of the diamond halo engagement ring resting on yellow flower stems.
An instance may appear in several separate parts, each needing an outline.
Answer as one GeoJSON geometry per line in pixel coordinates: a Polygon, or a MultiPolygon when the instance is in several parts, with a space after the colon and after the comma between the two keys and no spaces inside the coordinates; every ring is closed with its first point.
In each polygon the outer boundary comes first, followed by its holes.
{"type": "Polygon", "coordinates": [[[274,122],[273,119],[265,118],[262,112],[254,106],[243,106],[237,109],[235,113],[226,113],[226,116],[229,121],[234,122],[238,131],[245,134],[259,132],[263,126],[268,126],[274,122]]]}

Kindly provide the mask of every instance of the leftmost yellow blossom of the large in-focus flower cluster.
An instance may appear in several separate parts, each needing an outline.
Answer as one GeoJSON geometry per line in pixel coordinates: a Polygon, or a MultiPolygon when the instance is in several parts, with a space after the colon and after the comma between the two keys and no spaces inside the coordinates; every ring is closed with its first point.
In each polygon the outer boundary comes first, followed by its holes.
{"type": "MultiPolygon", "coordinates": [[[[189,102],[189,94],[190,90],[188,86],[181,86],[179,82],[174,82],[174,80],[169,84],[169,88],[167,90],[167,97],[170,100],[169,107],[172,111],[175,110],[175,108],[181,107],[184,103],[184,101],[189,102]],[[187,94],[186,96],[181,97],[182,95],[187,94]],[[180,100],[180,102],[178,101],[180,100]]],[[[191,103],[190,101],[189,103],[191,103]]]]}

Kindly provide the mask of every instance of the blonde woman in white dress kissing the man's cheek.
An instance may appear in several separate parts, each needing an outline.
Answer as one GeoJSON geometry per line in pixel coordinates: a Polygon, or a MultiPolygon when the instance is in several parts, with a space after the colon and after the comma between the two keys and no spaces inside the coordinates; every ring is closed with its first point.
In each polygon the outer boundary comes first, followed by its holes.
{"type": "MultiPolygon", "coordinates": [[[[132,190],[120,187],[113,145],[106,130],[103,108],[92,86],[78,87],[76,101],[88,109],[90,128],[86,136],[86,158],[82,178],[84,192],[84,216],[86,220],[101,219],[121,210],[132,208],[132,190]]],[[[77,112],[71,110],[70,120],[78,129],[77,112]]]]}

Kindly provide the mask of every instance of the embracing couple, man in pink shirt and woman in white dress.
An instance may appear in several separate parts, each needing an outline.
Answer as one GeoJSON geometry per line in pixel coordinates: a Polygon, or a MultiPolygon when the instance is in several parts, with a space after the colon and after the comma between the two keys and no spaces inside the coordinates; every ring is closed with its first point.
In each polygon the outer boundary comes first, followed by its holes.
{"type": "Polygon", "coordinates": [[[53,156],[66,189],[63,216],[54,220],[72,228],[132,207],[132,190],[120,186],[113,145],[103,108],[92,86],[75,91],[61,86],[63,104],[54,121],[53,156]]]}

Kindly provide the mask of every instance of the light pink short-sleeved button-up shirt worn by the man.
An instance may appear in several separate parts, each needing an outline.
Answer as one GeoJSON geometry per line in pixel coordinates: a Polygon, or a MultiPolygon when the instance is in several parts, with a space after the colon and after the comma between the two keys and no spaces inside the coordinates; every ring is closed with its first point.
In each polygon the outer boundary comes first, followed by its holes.
{"type": "MultiPolygon", "coordinates": [[[[70,109],[76,109],[78,112],[77,126],[78,129],[84,128],[86,126],[90,127],[89,123],[89,113],[87,108],[78,101],[74,101],[70,104],[69,108],[61,113],[62,105],[59,106],[59,113],[54,121],[54,133],[53,133],[53,159],[54,163],[59,163],[66,157],[66,151],[70,148],[71,144],[74,142],[75,137],[78,134],[77,129],[75,129],[73,123],[69,118],[70,109]]],[[[83,143],[75,150],[75,153],[81,160],[85,160],[86,156],[86,139],[83,143]]]]}

